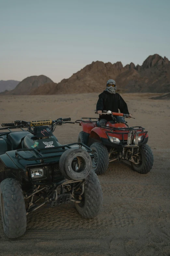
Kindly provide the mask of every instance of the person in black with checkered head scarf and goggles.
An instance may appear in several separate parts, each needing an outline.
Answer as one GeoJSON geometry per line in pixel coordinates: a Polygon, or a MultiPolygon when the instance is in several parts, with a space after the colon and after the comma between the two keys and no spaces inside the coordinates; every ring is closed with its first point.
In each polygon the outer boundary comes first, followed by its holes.
{"type": "MultiPolygon", "coordinates": [[[[119,112],[129,114],[126,102],[122,99],[120,94],[116,93],[116,82],[113,79],[109,79],[106,83],[106,90],[99,95],[99,99],[96,105],[96,111],[101,114],[103,110],[119,112]]],[[[129,114],[131,117],[132,114],[129,114]]],[[[110,115],[102,115],[99,117],[99,126],[105,126],[108,121],[113,121],[110,115]]]]}

